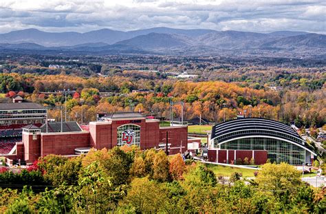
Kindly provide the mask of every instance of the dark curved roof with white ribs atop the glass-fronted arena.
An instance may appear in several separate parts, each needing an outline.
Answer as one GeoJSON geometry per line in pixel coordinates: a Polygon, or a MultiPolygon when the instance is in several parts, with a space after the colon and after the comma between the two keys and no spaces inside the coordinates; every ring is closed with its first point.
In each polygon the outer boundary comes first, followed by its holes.
{"type": "Polygon", "coordinates": [[[265,118],[239,118],[215,125],[212,128],[211,139],[218,138],[219,142],[239,136],[276,136],[305,145],[305,141],[292,127],[275,120],[265,118]]]}

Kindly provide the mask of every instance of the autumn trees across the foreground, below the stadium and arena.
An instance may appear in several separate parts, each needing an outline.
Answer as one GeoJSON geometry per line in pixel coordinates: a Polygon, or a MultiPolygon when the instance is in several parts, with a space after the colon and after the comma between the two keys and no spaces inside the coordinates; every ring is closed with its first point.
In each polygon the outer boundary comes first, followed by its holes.
{"type": "Polygon", "coordinates": [[[1,184],[26,185],[22,191],[0,189],[0,211],[325,213],[325,188],[301,182],[301,173],[294,167],[265,164],[255,175],[245,182],[235,173],[226,183],[202,163],[138,147],[91,150],[71,159],[51,155],[40,158],[21,175],[0,173],[1,184]],[[47,188],[40,191],[41,185],[47,188]]]}

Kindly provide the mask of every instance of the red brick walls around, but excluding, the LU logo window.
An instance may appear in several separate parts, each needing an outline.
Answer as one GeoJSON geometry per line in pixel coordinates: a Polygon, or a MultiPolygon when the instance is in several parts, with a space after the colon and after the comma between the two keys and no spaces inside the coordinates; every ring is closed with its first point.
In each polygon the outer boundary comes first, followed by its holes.
{"type": "Polygon", "coordinates": [[[170,153],[175,154],[187,150],[187,127],[160,127],[159,120],[121,119],[109,122],[90,122],[89,131],[68,131],[52,133],[28,133],[23,131],[21,145],[17,145],[17,153],[8,159],[26,160],[28,164],[39,157],[49,154],[72,156],[76,148],[94,147],[95,149],[111,149],[118,143],[118,127],[122,125],[137,125],[140,127],[140,149],[159,149],[165,142],[166,132],[169,135],[170,153]],[[131,123],[132,122],[132,123],[131,123]]]}

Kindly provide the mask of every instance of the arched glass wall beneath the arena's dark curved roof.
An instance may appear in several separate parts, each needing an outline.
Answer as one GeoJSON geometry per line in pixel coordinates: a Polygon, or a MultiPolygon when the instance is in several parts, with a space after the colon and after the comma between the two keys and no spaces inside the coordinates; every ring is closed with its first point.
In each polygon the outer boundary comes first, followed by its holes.
{"type": "MultiPolygon", "coordinates": [[[[217,138],[214,139],[216,147],[217,138]]],[[[272,138],[244,138],[231,140],[219,146],[220,149],[230,150],[267,150],[270,162],[287,162],[301,165],[305,162],[305,149],[290,142],[272,138]]]]}

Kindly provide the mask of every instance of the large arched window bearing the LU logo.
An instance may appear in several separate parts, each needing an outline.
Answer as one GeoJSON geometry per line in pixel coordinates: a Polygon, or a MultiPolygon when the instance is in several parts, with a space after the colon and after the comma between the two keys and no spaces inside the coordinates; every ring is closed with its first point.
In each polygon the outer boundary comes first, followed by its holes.
{"type": "Polygon", "coordinates": [[[140,146],[140,126],[126,124],[118,127],[117,145],[138,145],[140,146]]]}

